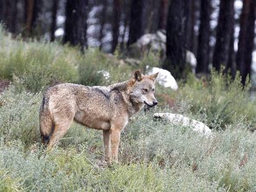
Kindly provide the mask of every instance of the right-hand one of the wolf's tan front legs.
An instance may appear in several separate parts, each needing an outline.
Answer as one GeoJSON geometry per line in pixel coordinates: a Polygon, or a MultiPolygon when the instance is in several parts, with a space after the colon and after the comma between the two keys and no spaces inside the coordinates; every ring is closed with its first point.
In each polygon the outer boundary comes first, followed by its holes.
{"type": "Polygon", "coordinates": [[[118,147],[120,142],[121,130],[119,128],[111,127],[111,157],[114,162],[118,162],[118,147]]]}

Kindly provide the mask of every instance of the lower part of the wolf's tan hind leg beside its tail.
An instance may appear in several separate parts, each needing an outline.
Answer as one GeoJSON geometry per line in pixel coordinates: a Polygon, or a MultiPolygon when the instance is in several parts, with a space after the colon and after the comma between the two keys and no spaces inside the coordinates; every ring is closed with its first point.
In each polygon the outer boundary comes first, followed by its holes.
{"type": "Polygon", "coordinates": [[[61,139],[67,133],[71,123],[72,120],[67,120],[66,122],[61,122],[55,125],[53,134],[49,139],[47,146],[48,149],[52,149],[59,142],[59,139],[61,139]]]}

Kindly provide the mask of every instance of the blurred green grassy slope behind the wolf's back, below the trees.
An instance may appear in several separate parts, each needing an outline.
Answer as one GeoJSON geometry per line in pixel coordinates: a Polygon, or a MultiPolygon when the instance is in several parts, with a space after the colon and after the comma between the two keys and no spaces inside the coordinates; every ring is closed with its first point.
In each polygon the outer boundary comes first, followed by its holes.
{"type": "MultiPolygon", "coordinates": [[[[0,26],[0,78],[34,93],[59,82],[108,85],[110,81],[99,71],[114,61],[114,57],[106,57],[97,49],[82,55],[77,48],[58,43],[14,40],[0,26]]],[[[115,66],[111,69],[117,70],[115,66]]]]}

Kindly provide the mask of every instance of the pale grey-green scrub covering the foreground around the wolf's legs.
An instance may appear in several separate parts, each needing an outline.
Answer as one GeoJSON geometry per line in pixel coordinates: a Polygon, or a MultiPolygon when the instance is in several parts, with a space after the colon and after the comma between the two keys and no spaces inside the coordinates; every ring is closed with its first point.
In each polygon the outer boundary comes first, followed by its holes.
{"type": "Polygon", "coordinates": [[[0,191],[256,190],[255,135],[245,122],[205,138],[153,120],[162,109],[141,112],[122,131],[120,163],[102,167],[101,131],[75,123],[59,148],[45,153],[40,100],[41,94],[15,89],[1,96],[0,191]]]}

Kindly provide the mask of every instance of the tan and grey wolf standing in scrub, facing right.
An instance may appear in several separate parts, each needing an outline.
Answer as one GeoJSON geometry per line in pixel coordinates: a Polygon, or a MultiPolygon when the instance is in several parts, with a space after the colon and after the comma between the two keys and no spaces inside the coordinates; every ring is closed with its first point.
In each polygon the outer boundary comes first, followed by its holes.
{"type": "Polygon", "coordinates": [[[88,128],[103,130],[105,160],[117,162],[121,130],[143,106],[158,104],[155,80],[158,73],[143,75],[136,70],[130,80],[109,86],[63,83],[43,94],[40,106],[42,142],[52,149],[74,120],[88,128]]]}

